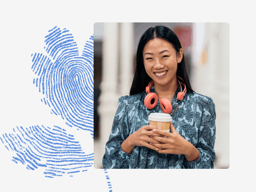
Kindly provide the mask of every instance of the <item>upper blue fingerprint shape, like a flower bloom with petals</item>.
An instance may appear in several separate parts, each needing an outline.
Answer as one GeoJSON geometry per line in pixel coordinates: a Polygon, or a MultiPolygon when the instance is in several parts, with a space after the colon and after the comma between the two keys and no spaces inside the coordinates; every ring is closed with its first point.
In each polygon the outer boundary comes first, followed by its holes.
{"type": "MultiPolygon", "coordinates": [[[[53,115],[60,115],[70,127],[90,131],[93,136],[93,36],[79,56],[69,30],[54,27],[45,36],[49,56],[31,55],[31,69],[39,92],[53,115]]],[[[93,138],[93,137],[92,137],[93,138]]]]}

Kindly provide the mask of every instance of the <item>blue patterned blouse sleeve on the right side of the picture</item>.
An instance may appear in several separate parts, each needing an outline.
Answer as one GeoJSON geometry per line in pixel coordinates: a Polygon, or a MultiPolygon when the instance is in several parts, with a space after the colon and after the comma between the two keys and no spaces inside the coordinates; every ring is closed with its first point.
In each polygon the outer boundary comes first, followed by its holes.
{"type": "Polygon", "coordinates": [[[210,98],[202,110],[200,128],[198,130],[198,143],[196,148],[200,156],[195,161],[184,159],[185,168],[213,169],[215,160],[214,142],[216,134],[216,112],[214,101],[210,98]]]}

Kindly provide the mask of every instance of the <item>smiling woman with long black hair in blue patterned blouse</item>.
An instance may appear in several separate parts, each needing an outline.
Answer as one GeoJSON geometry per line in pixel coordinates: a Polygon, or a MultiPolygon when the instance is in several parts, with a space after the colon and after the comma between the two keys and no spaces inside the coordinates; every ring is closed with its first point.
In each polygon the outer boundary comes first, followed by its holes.
{"type": "Polygon", "coordinates": [[[164,26],[149,28],[138,45],[130,96],[119,98],[102,164],[104,168],[214,168],[215,119],[212,98],[190,86],[176,34],[164,26]],[[152,109],[144,103],[149,82],[154,84],[150,92],[157,94],[152,109]],[[177,94],[184,90],[178,100],[177,94]],[[150,113],[166,112],[159,102],[162,98],[172,104],[170,132],[148,121],[150,113]]]}

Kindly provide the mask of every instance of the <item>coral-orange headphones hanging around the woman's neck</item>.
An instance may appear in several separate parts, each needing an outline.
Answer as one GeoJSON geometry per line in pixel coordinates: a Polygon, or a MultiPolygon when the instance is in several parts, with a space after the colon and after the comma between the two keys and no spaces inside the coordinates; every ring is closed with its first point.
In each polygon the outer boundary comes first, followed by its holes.
{"type": "MultiPolygon", "coordinates": [[[[178,76],[177,76],[178,77],[178,76]]],[[[180,77],[178,77],[180,78],[180,77]]],[[[178,83],[180,84],[180,92],[178,92],[177,94],[177,98],[176,100],[182,100],[185,93],[187,92],[187,89],[186,89],[186,84],[184,83],[183,79],[180,78],[182,80],[182,82],[179,82],[178,80],[178,83]],[[184,86],[184,90],[182,91],[182,87],[181,87],[181,84],[184,86]]],[[[146,97],[144,99],[144,104],[146,106],[146,108],[148,109],[153,109],[157,102],[158,102],[158,96],[156,93],[150,93],[150,90],[151,88],[154,86],[154,80],[151,80],[148,84],[148,86],[146,87],[146,97]]],[[[171,97],[170,97],[171,98],[171,97]]],[[[160,105],[161,105],[161,108],[162,110],[164,111],[164,113],[167,113],[167,114],[170,114],[172,112],[172,104],[170,103],[170,101],[168,100],[169,98],[162,98],[160,100],[160,105]]],[[[175,101],[176,102],[176,101],[175,101]]]]}

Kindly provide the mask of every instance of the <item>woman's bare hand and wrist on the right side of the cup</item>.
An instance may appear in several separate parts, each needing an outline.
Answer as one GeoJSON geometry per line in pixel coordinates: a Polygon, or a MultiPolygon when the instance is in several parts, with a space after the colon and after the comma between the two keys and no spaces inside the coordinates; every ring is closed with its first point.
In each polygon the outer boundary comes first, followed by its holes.
{"type": "Polygon", "coordinates": [[[184,139],[174,128],[173,124],[170,124],[170,129],[172,133],[166,132],[164,130],[153,129],[154,133],[161,134],[167,138],[159,136],[154,137],[154,140],[162,142],[162,144],[150,143],[152,146],[157,148],[162,148],[158,150],[158,153],[167,153],[167,154],[184,154],[186,160],[192,161],[199,158],[199,151],[186,139],[184,139]]]}

